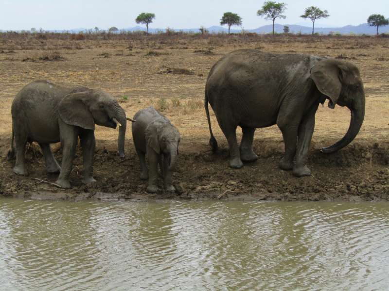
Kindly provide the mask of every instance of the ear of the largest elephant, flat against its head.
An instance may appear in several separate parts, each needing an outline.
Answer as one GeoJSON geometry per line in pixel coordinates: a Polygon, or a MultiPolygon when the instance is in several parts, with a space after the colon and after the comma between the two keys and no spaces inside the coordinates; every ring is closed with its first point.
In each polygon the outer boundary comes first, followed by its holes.
{"type": "Polygon", "coordinates": [[[318,90],[329,97],[328,107],[335,108],[340,91],[342,90],[342,69],[338,61],[334,59],[324,59],[316,63],[310,71],[309,76],[316,84],[318,90]]]}

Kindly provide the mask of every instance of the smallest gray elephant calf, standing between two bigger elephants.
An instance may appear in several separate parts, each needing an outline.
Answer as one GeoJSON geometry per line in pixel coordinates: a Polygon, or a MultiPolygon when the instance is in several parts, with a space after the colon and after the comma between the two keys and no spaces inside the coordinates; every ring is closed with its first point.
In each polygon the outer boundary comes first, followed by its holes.
{"type": "Polygon", "coordinates": [[[134,119],[137,122],[132,124],[132,137],[141,162],[141,179],[149,179],[147,191],[155,193],[158,190],[158,164],[164,178],[165,189],[175,191],[172,182],[180,142],[178,129],[152,106],[138,111],[134,119]],[[150,167],[149,173],[147,173],[146,154],[150,167]]]}

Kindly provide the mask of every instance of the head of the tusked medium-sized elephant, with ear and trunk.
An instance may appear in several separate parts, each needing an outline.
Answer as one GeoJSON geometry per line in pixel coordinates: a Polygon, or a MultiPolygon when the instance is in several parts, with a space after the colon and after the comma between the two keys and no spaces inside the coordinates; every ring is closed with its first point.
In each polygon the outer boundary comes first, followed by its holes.
{"type": "Polygon", "coordinates": [[[124,157],[124,137],[127,120],[124,109],[109,93],[89,89],[65,96],[58,104],[61,119],[83,129],[95,129],[95,124],[116,129],[119,125],[119,154],[124,157]]]}

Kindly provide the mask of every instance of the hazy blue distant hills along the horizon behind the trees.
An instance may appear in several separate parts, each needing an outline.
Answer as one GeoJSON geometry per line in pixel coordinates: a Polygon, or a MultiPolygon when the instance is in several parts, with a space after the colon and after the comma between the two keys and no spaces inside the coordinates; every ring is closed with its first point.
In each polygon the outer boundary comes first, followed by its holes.
{"type": "MultiPolygon", "coordinates": [[[[287,25],[289,26],[289,32],[293,32],[293,33],[297,33],[297,32],[301,32],[302,34],[310,34],[312,33],[312,27],[307,27],[307,26],[301,26],[301,25],[287,25]]],[[[233,28],[235,28],[233,26],[233,28]]],[[[230,29],[230,32],[232,33],[239,33],[241,32],[240,29],[233,29],[231,28],[230,29]]],[[[221,27],[221,26],[211,26],[209,28],[207,28],[209,30],[209,32],[215,32],[215,33],[218,33],[218,32],[225,32],[225,33],[228,33],[228,29],[225,28],[225,27],[221,27]]],[[[141,27],[141,26],[135,26],[135,27],[130,27],[130,28],[125,28],[124,29],[125,31],[146,31],[146,28],[145,27],[141,27]]],[[[85,28],[79,28],[79,29],[72,29],[70,30],[70,32],[73,32],[73,33],[78,33],[80,31],[84,31],[85,32],[85,28]]],[[[166,29],[159,29],[159,28],[149,28],[149,32],[150,33],[156,33],[158,31],[161,31],[161,32],[165,32],[166,29]]],[[[175,31],[183,31],[183,32],[200,32],[198,28],[192,28],[192,29],[175,29],[175,31]]],[[[265,26],[261,26],[259,28],[256,28],[256,29],[248,29],[246,30],[247,32],[256,32],[256,33],[259,33],[259,34],[265,34],[265,33],[269,33],[269,32],[272,32],[273,31],[273,25],[272,24],[269,24],[269,25],[265,25],[265,26]]],[[[274,31],[277,32],[277,33],[282,33],[283,32],[283,25],[282,24],[274,24],[274,31]]],[[[341,34],[349,34],[350,32],[354,32],[354,33],[357,33],[357,34],[376,34],[377,33],[377,27],[371,27],[369,26],[367,23],[363,23],[363,24],[360,24],[360,25],[357,25],[357,26],[354,26],[354,25],[347,25],[347,26],[344,26],[344,27],[315,27],[315,32],[318,32],[318,33],[323,33],[323,34],[328,34],[329,32],[340,32],[341,34]]],[[[53,32],[53,31],[50,31],[50,32],[53,32]]],[[[60,31],[57,31],[57,32],[60,32],[60,31]]],[[[389,33],[389,25],[387,26],[381,26],[379,29],[378,29],[378,32],[379,33],[389,33]]]]}

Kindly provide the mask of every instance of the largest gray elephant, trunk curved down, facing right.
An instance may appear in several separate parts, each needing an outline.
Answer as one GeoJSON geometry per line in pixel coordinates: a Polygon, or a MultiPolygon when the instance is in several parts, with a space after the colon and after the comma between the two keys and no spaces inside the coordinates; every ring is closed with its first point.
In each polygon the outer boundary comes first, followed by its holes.
{"type": "Polygon", "coordinates": [[[356,65],[328,57],[307,54],[271,54],[240,49],[213,65],[205,89],[205,110],[211,132],[210,145],[216,152],[208,102],[230,146],[230,166],[241,168],[242,161],[255,161],[252,150],[256,128],[277,124],[283,134],[285,154],[280,162],[294,176],[309,176],[306,162],[315,127],[318,105],[329,99],[351,110],[345,136],[322,152],[331,153],[347,146],[357,135],[365,116],[365,93],[356,65]],[[240,146],[236,128],[242,128],[240,146]],[[294,159],[296,159],[294,161],[294,159]]]}

